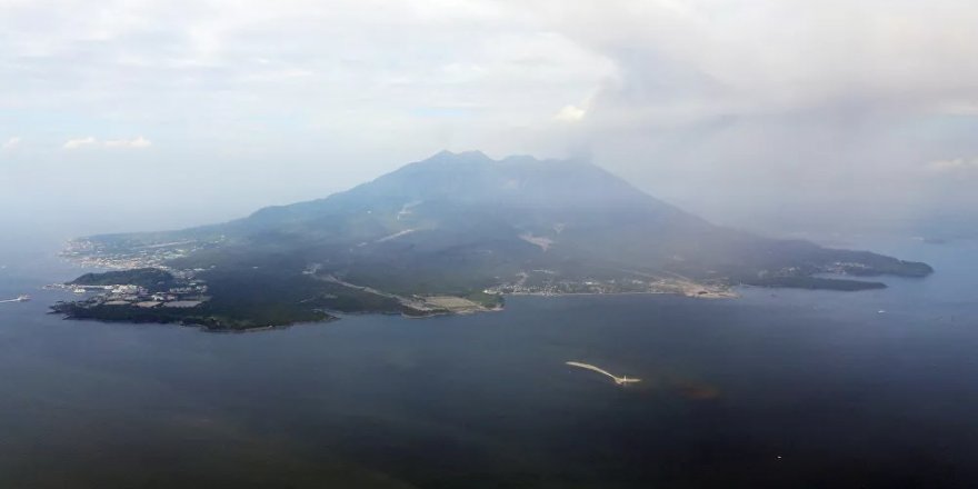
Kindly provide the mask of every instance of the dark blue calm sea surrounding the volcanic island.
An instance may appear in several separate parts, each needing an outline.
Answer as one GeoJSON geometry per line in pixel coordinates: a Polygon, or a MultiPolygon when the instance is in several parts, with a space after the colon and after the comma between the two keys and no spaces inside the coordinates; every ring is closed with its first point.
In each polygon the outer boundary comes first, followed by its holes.
{"type": "Polygon", "coordinates": [[[938,273],[241,335],[47,316],[77,270],[8,250],[0,487],[978,487],[978,248],[876,249],[938,273]]]}

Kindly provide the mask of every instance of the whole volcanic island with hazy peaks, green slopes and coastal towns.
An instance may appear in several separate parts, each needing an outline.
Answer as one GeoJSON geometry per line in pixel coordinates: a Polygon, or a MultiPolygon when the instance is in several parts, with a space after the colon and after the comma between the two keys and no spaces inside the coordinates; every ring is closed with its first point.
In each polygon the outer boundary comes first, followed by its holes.
{"type": "Polygon", "coordinates": [[[64,256],[122,270],[66,285],[87,293],[53,306],[68,318],[214,330],[477,312],[515,293],[725,298],[739,285],[864,290],[886,287],[867,277],[932,272],[715,226],[589,162],[478,151],[220,224],[78,239],[64,256]]]}

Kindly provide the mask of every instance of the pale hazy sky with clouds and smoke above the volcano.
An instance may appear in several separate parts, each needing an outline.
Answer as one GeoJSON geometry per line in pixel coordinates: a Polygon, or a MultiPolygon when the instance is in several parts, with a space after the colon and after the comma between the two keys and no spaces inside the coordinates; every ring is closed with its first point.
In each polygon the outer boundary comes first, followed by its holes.
{"type": "Polygon", "coordinates": [[[0,0],[0,223],[323,197],[442,149],[588,158],[720,223],[978,209],[965,0],[0,0]]]}

